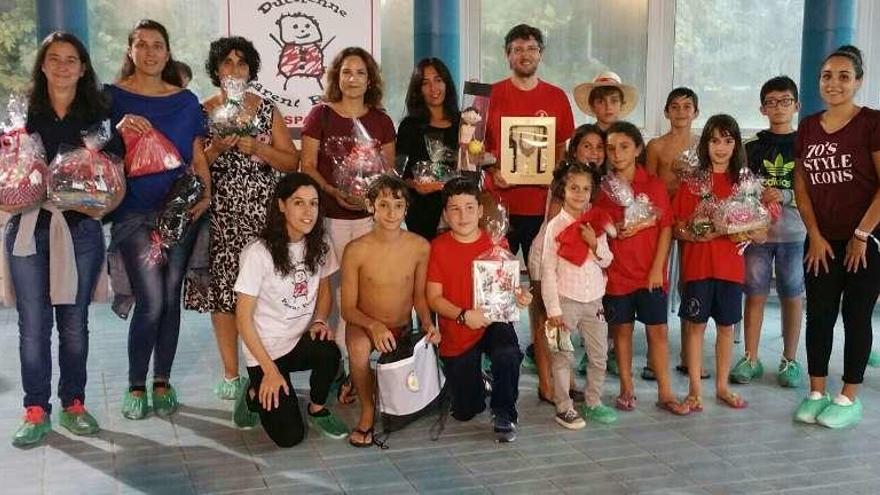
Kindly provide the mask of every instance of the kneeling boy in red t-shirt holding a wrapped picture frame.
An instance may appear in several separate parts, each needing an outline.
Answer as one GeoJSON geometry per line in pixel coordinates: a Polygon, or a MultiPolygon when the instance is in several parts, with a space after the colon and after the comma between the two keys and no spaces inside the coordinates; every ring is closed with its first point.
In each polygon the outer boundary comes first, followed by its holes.
{"type": "MultiPolygon", "coordinates": [[[[431,242],[428,260],[428,304],[439,318],[440,358],[452,396],[452,417],[468,421],[486,409],[480,362],[492,362],[493,427],[499,442],[516,440],[516,400],[522,352],[511,323],[493,323],[474,307],[472,264],[492,247],[480,230],[480,190],[469,179],[446,183],[441,194],[443,219],[450,230],[431,242]]],[[[531,294],[518,291],[517,304],[527,306],[531,294]]]]}

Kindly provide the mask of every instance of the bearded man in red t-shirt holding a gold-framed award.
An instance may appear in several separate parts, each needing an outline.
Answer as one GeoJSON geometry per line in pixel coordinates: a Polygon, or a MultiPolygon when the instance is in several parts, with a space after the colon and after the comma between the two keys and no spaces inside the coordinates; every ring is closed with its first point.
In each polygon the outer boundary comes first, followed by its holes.
{"type": "MultiPolygon", "coordinates": [[[[504,49],[510,65],[510,77],[492,85],[489,97],[489,115],[486,119],[486,151],[500,158],[501,117],[556,117],[556,158],[565,156],[565,144],[574,132],[574,117],[565,92],[538,78],[538,65],[544,53],[544,36],[527,24],[514,26],[504,37],[504,49]]],[[[555,165],[555,164],[554,164],[555,165]]],[[[523,260],[529,260],[532,241],[538,235],[547,209],[547,186],[511,186],[501,177],[497,167],[489,169],[486,187],[501,201],[510,214],[507,241],[516,254],[522,249],[523,260]]],[[[555,210],[558,211],[558,210],[555,210]]],[[[535,253],[536,255],[538,253],[535,253]]],[[[536,274],[532,274],[533,276],[536,274]]],[[[532,280],[532,291],[540,294],[537,280],[532,280]]],[[[534,298],[530,308],[532,340],[543,338],[543,307],[540,297],[534,298]]],[[[534,361],[538,362],[539,379],[549,382],[549,355],[546,346],[535,346],[534,361]]],[[[528,353],[527,354],[531,354],[528,353]]],[[[528,361],[534,362],[529,356],[528,361]]],[[[552,383],[552,382],[549,382],[552,383]]],[[[541,397],[541,394],[538,394],[541,397]]],[[[542,397],[548,403],[553,394],[542,397]]],[[[578,398],[583,400],[581,395],[578,398]]]]}

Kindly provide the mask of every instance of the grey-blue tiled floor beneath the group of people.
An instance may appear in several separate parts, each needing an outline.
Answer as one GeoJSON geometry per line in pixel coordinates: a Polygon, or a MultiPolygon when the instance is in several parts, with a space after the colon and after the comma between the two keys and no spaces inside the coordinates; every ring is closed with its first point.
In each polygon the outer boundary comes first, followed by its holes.
{"type": "MultiPolygon", "coordinates": [[[[0,442],[0,493],[880,493],[880,371],[868,371],[861,395],[866,416],[857,428],[793,424],[804,390],[775,385],[781,346],[775,307],[762,340],[768,371],[759,383],[736,389],[751,404],[745,411],[708,401],[702,414],[672,417],[654,408],[653,384],[637,379],[636,411],[612,426],[569,432],[552,421],[552,407],[539,404],[535,376],[524,374],[516,443],[494,443],[484,414],[469,423],[450,420],[437,442],[429,440],[432,422],[422,420],[395,433],[387,450],[354,449],[313,432],[302,445],[280,450],[259,429],[234,429],[232,404],[211,394],[219,366],[208,318],[186,313],[184,319],[173,380],[184,405],[170,421],[133,422],[119,413],[127,324],[106,305],[94,305],[87,405],[103,431],[82,439],[58,428],[44,446],[24,451],[0,442]]],[[[521,335],[524,330],[521,325],[521,335]]],[[[677,354],[678,331],[671,333],[677,354]]],[[[835,387],[841,339],[832,358],[835,387]]],[[[636,340],[640,368],[643,334],[636,340]]],[[[14,311],[0,310],[0,348],[7,356],[0,362],[0,433],[8,439],[22,395],[14,311]]],[[[711,363],[708,342],[706,351],[711,363]]],[[[305,377],[295,383],[304,387],[305,377]]],[[[686,390],[683,377],[674,385],[686,390]]],[[[711,381],[706,388],[711,397],[711,381]]],[[[605,400],[616,392],[609,379],[605,400]]],[[[355,409],[337,411],[352,424],[355,409]]]]}

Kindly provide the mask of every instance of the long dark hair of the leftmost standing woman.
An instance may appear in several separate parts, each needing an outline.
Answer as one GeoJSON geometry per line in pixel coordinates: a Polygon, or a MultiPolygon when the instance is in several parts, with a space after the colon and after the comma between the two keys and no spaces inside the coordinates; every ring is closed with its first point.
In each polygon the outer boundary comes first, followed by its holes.
{"type": "Polygon", "coordinates": [[[32,115],[52,115],[52,102],[49,100],[49,81],[43,73],[43,63],[49,47],[54,43],[69,43],[76,50],[83,67],[83,75],[76,83],[76,95],[70,104],[72,116],[85,121],[96,120],[107,114],[110,103],[98,88],[98,76],[92,67],[92,59],[85,45],[76,36],[63,31],[49,34],[40,43],[34,67],[31,70],[31,85],[28,92],[28,112],[32,115]]]}

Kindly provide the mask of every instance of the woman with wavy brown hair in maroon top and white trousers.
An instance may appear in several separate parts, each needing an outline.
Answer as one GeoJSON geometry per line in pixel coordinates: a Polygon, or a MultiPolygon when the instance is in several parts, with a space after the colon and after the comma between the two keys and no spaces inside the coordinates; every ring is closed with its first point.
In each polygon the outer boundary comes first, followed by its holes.
{"type": "MultiPolygon", "coordinates": [[[[394,163],[394,122],[382,111],[382,76],[369,52],[348,47],[339,52],[327,69],[324,103],[315,106],[306,116],[302,129],[302,171],[321,186],[321,202],[327,205],[327,230],[336,258],[342,259],[345,246],[372,228],[372,219],[361,206],[351,204],[334,178],[333,161],[327,154],[328,138],[350,137],[357,118],[377,142],[386,170],[394,163]]],[[[339,275],[330,279],[339,301],[339,275]]],[[[338,306],[337,306],[338,307],[338,306]]],[[[338,319],[336,344],[347,356],[345,322],[338,319]]],[[[350,403],[351,387],[346,381],[340,389],[340,400],[350,403]]]]}

